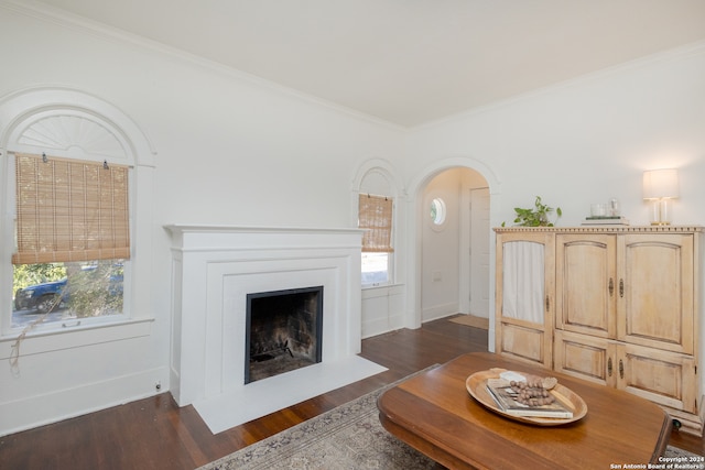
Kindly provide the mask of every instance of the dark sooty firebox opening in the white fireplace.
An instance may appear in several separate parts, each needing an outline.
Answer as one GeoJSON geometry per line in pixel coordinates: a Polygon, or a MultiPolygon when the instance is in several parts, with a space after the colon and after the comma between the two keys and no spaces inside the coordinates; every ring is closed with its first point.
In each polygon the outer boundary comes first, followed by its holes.
{"type": "Polygon", "coordinates": [[[245,383],[322,360],[323,286],[247,295],[245,383]]]}

